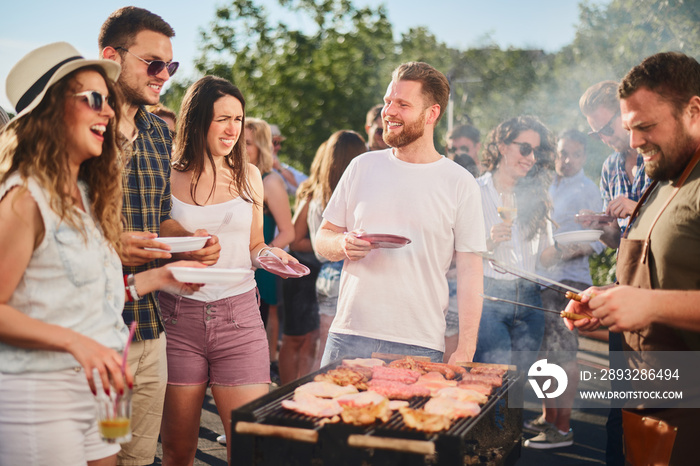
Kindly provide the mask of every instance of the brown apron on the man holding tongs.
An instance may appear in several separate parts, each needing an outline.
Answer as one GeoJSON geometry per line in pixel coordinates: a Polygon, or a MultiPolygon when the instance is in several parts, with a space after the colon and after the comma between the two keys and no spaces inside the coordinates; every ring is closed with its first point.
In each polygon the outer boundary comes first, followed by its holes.
{"type": "MultiPolygon", "coordinates": [[[[661,214],[685,183],[686,179],[700,161],[700,151],[696,151],[666,202],[649,227],[646,238],[631,240],[627,238],[632,222],[658,182],[654,181],[637,203],[629,227],[620,240],[617,255],[617,277],[621,285],[652,289],[649,255],[651,253],[651,232],[661,214]]],[[[624,332],[623,346],[627,360],[632,368],[650,369],[657,367],[650,356],[650,351],[670,350],[678,343],[676,331],[666,325],[652,323],[633,332],[624,332]]],[[[625,409],[623,410],[623,430],[625,435],[625,456],[629,464],[697,464],[697,434],[693,434],[698,425],[698,409],[625,409]]]]}

